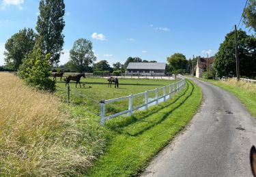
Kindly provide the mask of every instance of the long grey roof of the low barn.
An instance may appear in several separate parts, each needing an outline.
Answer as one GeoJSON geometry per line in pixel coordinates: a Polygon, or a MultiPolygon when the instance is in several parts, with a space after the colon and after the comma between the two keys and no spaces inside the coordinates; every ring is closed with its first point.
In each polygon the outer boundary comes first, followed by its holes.
{"type": "Polygon", "coordinates": [[[165,70],[166,63],[129,63],[127,69],[160,69],[165,70]]]}

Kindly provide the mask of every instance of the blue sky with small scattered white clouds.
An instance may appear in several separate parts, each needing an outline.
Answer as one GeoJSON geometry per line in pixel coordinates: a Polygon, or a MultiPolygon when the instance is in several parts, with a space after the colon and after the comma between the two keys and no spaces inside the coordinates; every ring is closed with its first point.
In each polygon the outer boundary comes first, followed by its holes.
{"type": "MultiPolygon", "coordinates": [[[[213,55],[238,24],[246,0],[66,0],[61,63],[81,37],[91,40],[97,61],[112,65],[128,57],[166,62],[213,55]]],[[[39,0],[0,0],[0,65],[4,44],[24,27],[35,29],[39,0]]],[[[241,25],[240,25],[241,26],[241,25]]],[[[242,25],[244,29],[244,25],[242,25]]]]}

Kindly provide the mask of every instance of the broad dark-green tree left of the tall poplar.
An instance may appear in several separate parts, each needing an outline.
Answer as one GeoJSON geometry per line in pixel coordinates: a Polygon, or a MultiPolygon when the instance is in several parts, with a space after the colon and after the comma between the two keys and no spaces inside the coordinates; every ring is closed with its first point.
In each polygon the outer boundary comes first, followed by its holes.
{"type": "Polygon", "coordinates": [[[33,29],[22,29],[15,33],[5,43],[5,63],[10,69],[17,70],[22,63],[25,55],[29,54],[35,46],[35,37],[33,29]]]}

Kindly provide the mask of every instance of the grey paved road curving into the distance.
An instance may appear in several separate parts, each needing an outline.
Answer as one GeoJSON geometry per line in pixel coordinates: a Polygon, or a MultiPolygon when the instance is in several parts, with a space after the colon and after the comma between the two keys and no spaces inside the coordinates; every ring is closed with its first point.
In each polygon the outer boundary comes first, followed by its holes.
{"type": "Polygon", "coordinates": [[[201,109],[142,176],[252,176],[248,153],[256,144],[255,119],[233,95],[192,80],[203,91],[201,109]]]}

